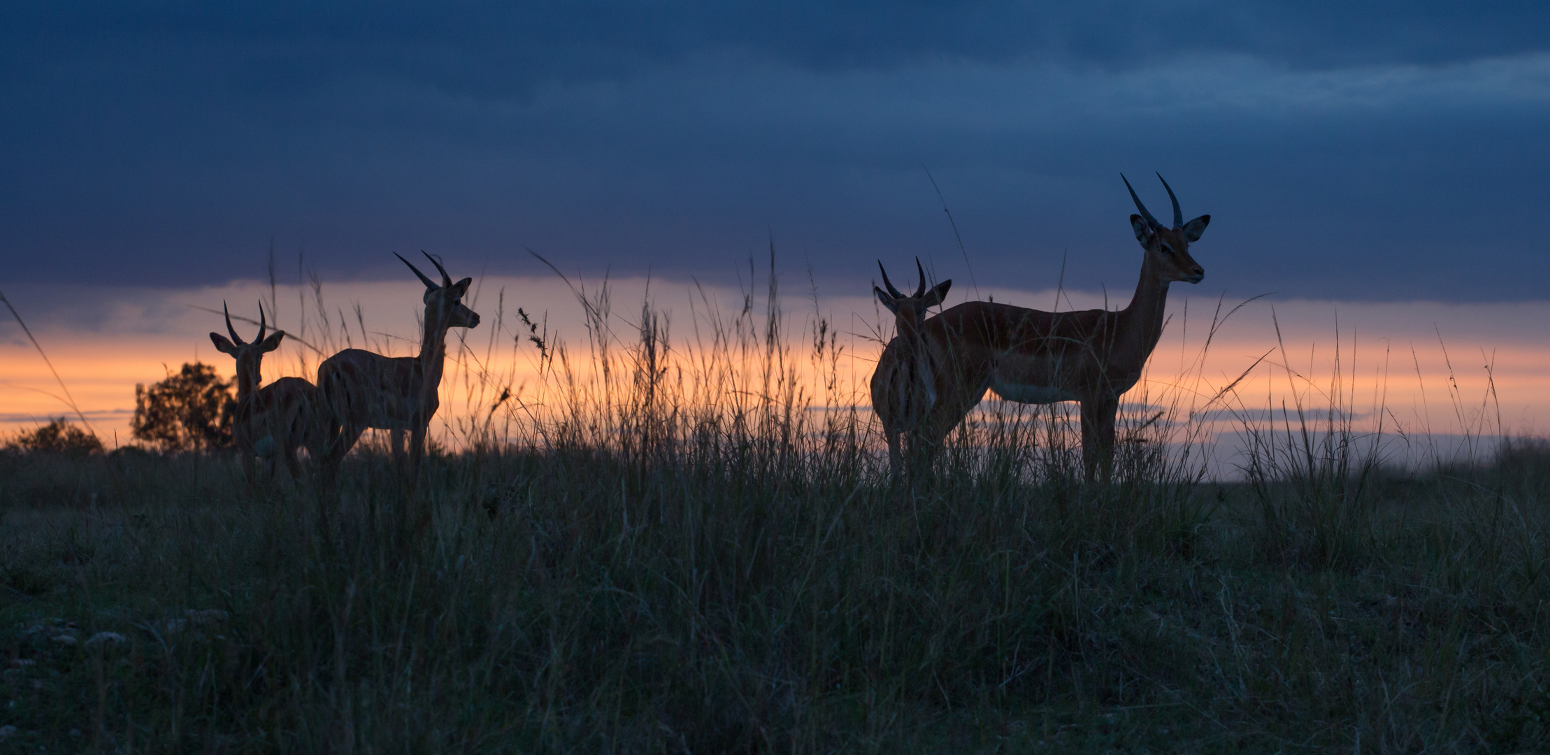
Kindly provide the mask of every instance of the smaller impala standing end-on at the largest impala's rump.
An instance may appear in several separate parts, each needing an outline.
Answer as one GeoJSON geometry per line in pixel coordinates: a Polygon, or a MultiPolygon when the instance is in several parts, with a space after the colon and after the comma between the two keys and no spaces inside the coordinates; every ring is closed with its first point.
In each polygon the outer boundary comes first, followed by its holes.
{"type": "Polygon", "coordinates": [[[910,473],[918,471],[918,465],[928,457],[924,448],[916,443],[918,428],[936,403],[936,375],[939,364],[933,358],[932,349],[921,336],[921,322],[925,321],[927,310],[942,302],[952,281],[942,281],[925,290],[925,270],[921,259],[914,259],[914,270],[921,276],[921,284],[913,296],[905,296],[888,281],[888,271],[877,262],[882,271],[882,284],[888,290],[873,285],[873,293],[888,312],[894,315],[896,335],[877,357],[877,371],[873,372],[871,394],[873,411],[882,422],[882,434],[888,440],[888,465],[894,477],[904,471],[905,456],[910,457],[910,473]],[[908,448],[904,448],[908,445],[908,448]]]}

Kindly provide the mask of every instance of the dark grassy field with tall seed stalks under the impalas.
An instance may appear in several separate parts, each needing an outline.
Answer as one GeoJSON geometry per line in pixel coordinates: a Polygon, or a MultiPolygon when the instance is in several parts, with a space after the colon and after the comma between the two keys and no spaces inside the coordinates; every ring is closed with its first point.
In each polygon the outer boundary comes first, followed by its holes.
{"type": "Polygon", "coordinates": [[[332,496],[229,456],[0,456],[0,750],[1550,739],[1544,445],[1392,470],[1335,406],[1245,423],[1212,482],[1186,406],[1085,482],[1063,414],[1003,406],[908,490],[870,409],[797,377],[835,364],[822,327],[794,355],[747,307],[696,349],[597,318],[603,378],[546,346],[539,417],[476,377],[490,414],[412,491],[370,450],[332,496]]]}

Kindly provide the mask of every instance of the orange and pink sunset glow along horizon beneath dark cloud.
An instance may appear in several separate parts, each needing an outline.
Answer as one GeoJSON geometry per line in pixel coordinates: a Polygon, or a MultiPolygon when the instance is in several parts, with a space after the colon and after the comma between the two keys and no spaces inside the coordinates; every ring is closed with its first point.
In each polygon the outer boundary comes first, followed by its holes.
{"type": "MultiPolygon", "coordinates": [[[[634,338],[631,322],[639,318],[640,302],[646,293],[645,281],[614,281],[611,322],[618,349],[634,338]]],[[[860,287],[857,287],[860,288],[860,287]]],[[[587,282],[587,291],[595,291],[587,282]]],[[[684,357],[693,352],[698,318],[701,335],[705,335],[707,299],[698,290],[682,284],[651,282],[651,299],[670,322],[671,343],[684,357]]],[[[324,288],[324,307],[330,312],[327,327],[321,324],[312,302],[310,288],[281,287],[279,321],[299,338],[265,360],[265,381],[282,375],[312,378],[319,361],[319,352],[344,346],[361,346],[388,350],[392,355],[409,355],[418,341],[417,310],[418,285],[414,284],[339,284],[324,288]],[[304,304],[307,305],[304,309],[304,304]],[[360,318],[355,307],[360,307],[360,318]],[[305,312],[308,319],[298,316],[305,312]],[[364,329],[361,327],[364,321],[364,329]],[[349,335],[343,335],[347,332],[349,335]],[[391,333],[391,335],[384,335],[391,333]],[[318,350],[302,346],[305,340],[318,350]]],[[[1049,291],[981,291],[994,295],[995,301],[1048,307],[1054,301],[1049,291]]],[[[1550,318],[1550,302],[1510,304],[1359,304],[1359,302],[1252,302],[1235,313],[1215,333],[1211,350],[1200,361],[1200,349],[1209,330],[1209,312],[1215,299],[1187,299],[1187,322],[1184,321],[1186,298],[1190,293],[1176,287],[1170,299],[1173,321],[1169,324],[1149,363],[1147,386],[1127,398],[1138,395],[1161,395],[1172,389],[1181,405],[1204,400],[1232,383],[1256,360],[1263,357],[1257,369],[1237,384],[1237,403],[1243,408],[1279,406],[1293,402],[1294,394],[1304,394],[1314,408],[1327,408],[1322,392],[1331,384],[1336,357],[1336,321],[1339,322],[1341,384],[1345,402],[1358,414],[1370,412],[1383,402],[1389,415],[1412,429],[1454,433],[1459,425],[1459,406],[1469,412],[1500,412],[1502,429],[1517,434],[1539,431],[1539,420],[1550,409],[1550,335],[1542,335],[1534,324],[1550,318]],[[1207,309],[1209,307],[1209,309],[1207,309]],[[1274,321],[1271,319],[1274,313],[1274,321]],[[1277,344],[1276,322],[1280,326],[1277,344]],[[1186,327],[1187,324],[1187,327],[1186,327]],[[1438,343],[1438,332],[1442,343],[1438,343]],[[1355,350],[1353,343],[1355,340],[1355,350]],[[1446,352],[1445,352],[1446,349],[1446,352]],[[1290,364],[1288,364],[1290,363],[1290,364]],[[1449,372],[1449,363],[1452,366],[1449,372]],[[1486,371],[1490,364],[1490,371],[1486,371]],[[1288,381],[1286,366],[1294,377],[1288,381]],[[1355,375],[1355,377],[1353,377],[1355,375]],[[1488,389],[1494,383],[1496,402],[1488,402],[1488,389]],[[1454,389],[1454,386],[1457,386],[1454,389]],[[1457,391],[1454,394],[1452,391],[1457,391]]],[[[167,371],[175,372],[184,361],[214,364],[223,375],[231,375],[229,357],[215,352],[208,332],[225,332],[219,315],[220,302],[248,301],[259,296],[268,301],[268,285],[239,282],[220,288],[189,288],[174,291],[99,290],[95,296],[115,301],[113,316],[95,322],[90,329],[71,329],[50,321],[48,313],[29,318],[50,360],[59,371],[78,406],[87,412],[93,429],[104,443],[129,442],[129,422],[135,402],[135,384],[161,380],[167,371]],[[147,301],[157,305],[147,305],[147,301]],[[214,309],[215,315],[198,307],[214,309]]],[[[711,309],[722,313],[741,309],[742,291],[733,288],[708,288],[711,309]]],[[[1100,305],[1100,296],[1071,293],[1079,305],[1100,305]]],[[[961,299],[958,299],[961,301],[961,299]]],[[[763,310],[763,301],[755,299],[763,310]]],[[[956,301],[955,301],[956,302],[956,301]]],[[[572,366],[589,367],[587,332],[572,291],[555,279],[485,279],[477,296],[470,302],[484,315],[480,329],[463,333],[453,332],[448,340],[450,361],[442,383],[442,412],[437,425],[459,415],[480,414],[482,408],[470,402],[482,402],[477,372],[480,369],[508,380],[513,391],[527,391],[522,400],[533,400],[539,391],[536,349],[525,336],[527,329],[516,318],[522,307],[535,321],[547,327],[552,344],[564,344],[572,366]],[[504,293],[502,293],[504,291],[504,293]],[[499,301],[498,301],[499,299],[499,301]],[[501,312],[501,327],[496,315],[501,312]],[[459,341],[462,335],[462,341],[459,341]],[[465,349],[459,346],[465,344],[465,349]],[[457,364],[456,358],[463,358],[457,364]],[[580,361],[578,361],[580,360],[580,361]]],[[[815,305],[811,298],[790,295],[783,299],[784,333],[792,344],[801,380],[812,389],[818,378],[806,360],[811,350],[811,322],[815,305]]],[[[1065,299],[1062,299],[1065,304],[1065,299]]],[[[254,309],[250,305],[248,309],[254,309]]],[[[1068,309],[1068,307],[1062,307],[1068,309]]],[[[866,380],[880,344],[866,333],[874,332],[879,309],[868,298],[823,298],[817,302],[831,319],[831,330],[839,332],[839,346],[846,358],[839,366],[840,386],[835,395],[814,397],[817,403],[868,405],[866,380]]],[[[256,316],[256,312],[232,307],[234,316],[256,316]]],[[[884,319],[891,335],[891,321],[884,319]]],[[[251,338],[254,326],[239,322],[239,333],[251,338]]],[[[488,389],[488,386],[484,386],[488,389]]],[[[553,391],[553,386],[549,388],[553,391]]],[[[499,391],[496,391],[499,392],[499,391]]],[[[809,394],[812,395],[812,394],[809,394]]],[[[1342,402],[1344,403],[1344,402],[1342,402]]],[[[1215,406],[1224,408],[1224,406],[1215,406]]],[[[14,322],[0,326],[0,433],[16,433],[33,428],[50,417],[71,415],[60,400],[59,384],[39,358],[33,346],[14,322]]],[[[1494,419],[1491,420],[1494,422],[1494,419]]]]}

